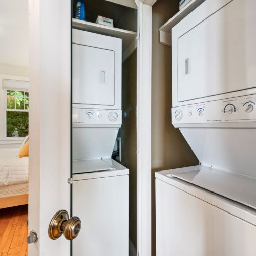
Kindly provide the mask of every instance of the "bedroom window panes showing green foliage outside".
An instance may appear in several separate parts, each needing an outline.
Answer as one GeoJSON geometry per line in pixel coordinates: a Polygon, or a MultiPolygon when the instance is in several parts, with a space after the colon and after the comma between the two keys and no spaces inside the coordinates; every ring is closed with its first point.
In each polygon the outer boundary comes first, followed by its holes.
{"type": "Polygon", "coordinates": [[[28,91],[6,90],[6,137],[25,137],[29,133],[28,91]]]}

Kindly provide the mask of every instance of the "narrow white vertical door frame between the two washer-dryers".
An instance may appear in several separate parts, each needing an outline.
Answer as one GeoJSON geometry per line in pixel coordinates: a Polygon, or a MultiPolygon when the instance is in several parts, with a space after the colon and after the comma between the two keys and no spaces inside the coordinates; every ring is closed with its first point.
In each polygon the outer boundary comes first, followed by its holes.
{"type": "Polygon", "coordinates": [[[137,255],[151,255],[151,52],[152,7],[155,1],[138,5],[137,87],[137,255]],[[148,5],[149,4],[149,5],[148,5]]]}

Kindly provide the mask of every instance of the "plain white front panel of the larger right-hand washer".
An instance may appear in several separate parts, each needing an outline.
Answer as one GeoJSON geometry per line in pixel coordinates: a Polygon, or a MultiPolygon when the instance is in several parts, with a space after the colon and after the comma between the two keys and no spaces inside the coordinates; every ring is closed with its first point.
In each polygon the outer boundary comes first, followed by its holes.
{"type": "Polygon", "coordinates": [[[157,255],[255,256],[256,227],[156,179],[157,255]]]}

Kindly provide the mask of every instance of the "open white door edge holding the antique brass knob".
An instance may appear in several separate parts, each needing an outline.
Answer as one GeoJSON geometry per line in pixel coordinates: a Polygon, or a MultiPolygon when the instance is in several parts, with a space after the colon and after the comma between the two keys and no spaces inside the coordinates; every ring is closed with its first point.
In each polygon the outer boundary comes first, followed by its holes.
{"type": "Polygon", "coordinates": [[[70,214],[71,1],[29,0],[30,256],[70,255],[70,241],[48,236],[54,214],[70,214]]]}

